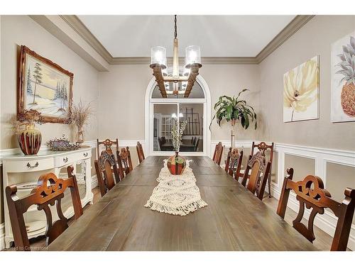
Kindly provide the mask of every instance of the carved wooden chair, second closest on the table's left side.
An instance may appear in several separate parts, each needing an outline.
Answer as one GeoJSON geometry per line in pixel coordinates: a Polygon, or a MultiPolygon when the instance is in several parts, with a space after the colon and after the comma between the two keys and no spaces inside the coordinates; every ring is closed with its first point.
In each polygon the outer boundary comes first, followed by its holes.
{"type": "Polygon", "coordinates": [[[103,150],[98,160],[94,161],[97,182],[101,196],[104,196],[116,183],[120,181],[119,170],[117,169],[116,160],[111,150],[103,150]],[[115,179],[115,180],[114,180],[115,179]]]}

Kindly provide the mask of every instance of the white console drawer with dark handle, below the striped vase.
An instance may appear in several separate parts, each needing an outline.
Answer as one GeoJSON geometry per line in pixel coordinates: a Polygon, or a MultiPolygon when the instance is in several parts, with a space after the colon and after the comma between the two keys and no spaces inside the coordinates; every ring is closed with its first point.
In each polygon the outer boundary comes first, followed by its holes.
{"type": "Polygon", "coordinates": [[[7,172],[35,172],[54,168],[53,158],[41,158],[39,160],[11,160],[6,162],[7,172]]]}

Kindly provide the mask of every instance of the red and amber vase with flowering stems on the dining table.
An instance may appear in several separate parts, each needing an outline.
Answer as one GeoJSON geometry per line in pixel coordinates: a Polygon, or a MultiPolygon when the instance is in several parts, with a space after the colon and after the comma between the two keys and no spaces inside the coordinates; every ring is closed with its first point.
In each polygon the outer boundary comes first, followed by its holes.
{"type": "Polygon", "coordinates": [[[171,138],[173,141],[173,147],[175,150],[175,155],[169,157],[167,162],[167,167],[170,174],[182,174],[186,167],[186,160],[184,157],[179,155],[182,134],[185,131],[187,121],[182,121],[179,125],[178,119],[174,119],[173,128],[171,130],[171,138]]]}

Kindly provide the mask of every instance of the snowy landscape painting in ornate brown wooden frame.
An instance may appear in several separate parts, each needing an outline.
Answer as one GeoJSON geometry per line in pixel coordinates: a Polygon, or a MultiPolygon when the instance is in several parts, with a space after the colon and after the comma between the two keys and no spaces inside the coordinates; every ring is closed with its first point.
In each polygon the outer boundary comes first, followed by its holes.
{"type": "Polygon", "coordinates": [[[34,109],[43,121],[65,123],[71,112],[73,74],[21,45],[17,113],[34,109]]]}

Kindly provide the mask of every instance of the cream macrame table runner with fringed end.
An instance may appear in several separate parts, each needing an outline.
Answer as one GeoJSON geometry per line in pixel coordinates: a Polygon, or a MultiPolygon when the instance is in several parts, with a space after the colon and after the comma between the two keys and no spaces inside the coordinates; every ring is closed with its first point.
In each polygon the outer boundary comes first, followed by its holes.
{"type": "Polygon", "coordinates": [[[153,211],[180,216],[207,206],[201,199],[190,161],[192,160],[186,160],[186,168],[182,174],[174,175],[170,174],[166,165],[167,160],[164,160],[164,167],[156,179],[159,184],[153,189],[153,194],[144,206],[153,211]]]}

